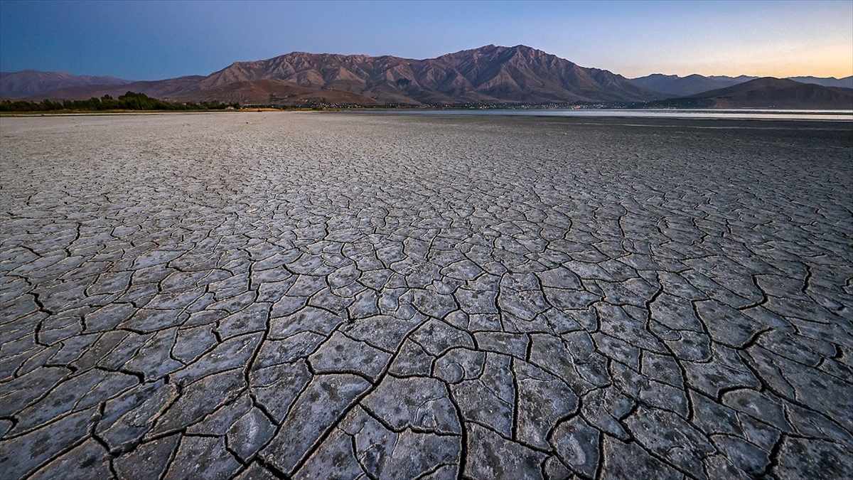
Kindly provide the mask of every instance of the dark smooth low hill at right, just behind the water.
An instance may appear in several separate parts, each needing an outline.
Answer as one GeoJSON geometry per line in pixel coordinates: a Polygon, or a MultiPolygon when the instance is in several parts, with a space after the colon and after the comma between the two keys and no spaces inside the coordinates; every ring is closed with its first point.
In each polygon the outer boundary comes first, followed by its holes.
{"type": "Polygon", "coordinates": [[[710,108],[853,109],[853,90],[767,77],[705,91],[683,100],[695,102],[694,106],[710,108]]]}

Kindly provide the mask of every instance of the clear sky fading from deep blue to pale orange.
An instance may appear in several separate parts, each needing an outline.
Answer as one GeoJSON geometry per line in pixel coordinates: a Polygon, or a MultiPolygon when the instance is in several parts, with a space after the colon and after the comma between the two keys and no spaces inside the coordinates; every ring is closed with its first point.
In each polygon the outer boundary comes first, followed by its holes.
{"type": "Polygon", "coordinates": [[[583,67],[853,75],[853,0],[261,2],[0,0],[0,70],[206,75],[291,51],[429,58],[525,44],[583,67]]]}

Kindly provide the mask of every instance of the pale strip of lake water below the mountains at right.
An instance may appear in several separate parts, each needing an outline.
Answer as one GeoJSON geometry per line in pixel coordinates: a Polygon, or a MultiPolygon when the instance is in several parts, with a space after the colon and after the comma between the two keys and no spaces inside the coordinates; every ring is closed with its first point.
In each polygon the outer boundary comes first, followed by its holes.
{"type": "Polygon", "coordinates": [[[519,115],[541,117],[630,117],[721,120],[827,120],[853,121],[853,110],[782,110],[782,109],[377,109],[383,114],[402,115],[519,115]]]}

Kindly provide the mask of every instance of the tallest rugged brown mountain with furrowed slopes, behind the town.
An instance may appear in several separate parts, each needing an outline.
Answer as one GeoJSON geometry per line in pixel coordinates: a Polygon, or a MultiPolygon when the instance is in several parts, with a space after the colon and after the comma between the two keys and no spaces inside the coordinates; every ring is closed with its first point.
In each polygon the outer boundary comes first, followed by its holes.
{"type": "MultiPolygon", "coordinates": [[[[525,45],[485,45],[422,60],[291,52],[258,61],[235,61],[206,76],[111,85],[73,85],[27,97],[115,96],[122,88],[151,97],[206,97],[227,85],[279,80],[316,91],[345,91],[375,103],[636,102],[659,97],[616,73],[580,67],[525,45]]],[[[0,82],[6,79],[0,79],[0,82]]],[[[257,86],[258,84],[254,84],[257,86]]],[[[123,93],[123,92],[121,92],[123,93]]],[[[120,93],[119,93],[120,94],[120,93]]]]}

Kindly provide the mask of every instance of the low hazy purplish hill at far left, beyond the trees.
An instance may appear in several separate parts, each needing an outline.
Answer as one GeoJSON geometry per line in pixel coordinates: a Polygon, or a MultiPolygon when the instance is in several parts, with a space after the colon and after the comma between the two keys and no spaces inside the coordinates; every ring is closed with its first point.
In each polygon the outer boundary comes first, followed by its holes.
{"type": "MultiPolygon", "coordinates": [[[[131,80],[115,77],[78,76],[64,72],[20,72],[0,73],[0,97],[36,97],[48,91],[80,85],[126,85],[131,80]]],[[[122,92],[124,93],[124,92],[122,92]]]]}

